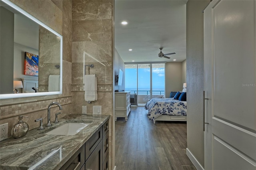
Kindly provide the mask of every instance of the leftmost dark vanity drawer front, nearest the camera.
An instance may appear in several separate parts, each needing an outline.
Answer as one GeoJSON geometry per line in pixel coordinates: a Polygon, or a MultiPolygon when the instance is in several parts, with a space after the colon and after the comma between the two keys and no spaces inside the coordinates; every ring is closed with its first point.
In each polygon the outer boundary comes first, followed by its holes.
{"type": "Polygon", "coordinates": [[[60,170],[80,170],[84,165],[84,145],[60,168],[60,170]]]}

